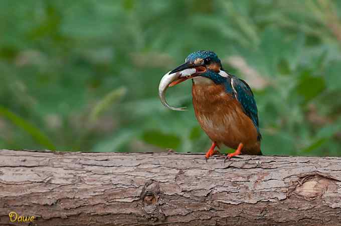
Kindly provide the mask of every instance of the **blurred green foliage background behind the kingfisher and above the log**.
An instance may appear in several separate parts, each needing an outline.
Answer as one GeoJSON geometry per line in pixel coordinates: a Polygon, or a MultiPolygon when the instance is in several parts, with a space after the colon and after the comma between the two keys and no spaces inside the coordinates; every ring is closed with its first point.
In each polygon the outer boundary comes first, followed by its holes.
{"type": "Polygon", "coordinates": [[[262,151],[341,155],[341,1],[2,0],[0,148],[204,152],[191,85],[211,49],[252,87],[262,151]]]}

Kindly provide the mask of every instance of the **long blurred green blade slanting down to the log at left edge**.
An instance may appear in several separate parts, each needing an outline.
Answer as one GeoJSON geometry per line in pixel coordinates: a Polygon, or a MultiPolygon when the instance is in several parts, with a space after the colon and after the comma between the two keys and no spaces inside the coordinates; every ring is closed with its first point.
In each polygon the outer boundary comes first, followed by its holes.
{"type": "Polygon", "coordinates": [[[10,120],[16,126],[21,129],[24,129],[27,133],[29,133],[39,144],[45,146],[50,150],[55,150],[56,147],[52,144],[50,139],[36,126],[31,124],[29,121],[20,117],[19,115],[13,113],[7,108],[0,106],[0,115],[10,120]]]}

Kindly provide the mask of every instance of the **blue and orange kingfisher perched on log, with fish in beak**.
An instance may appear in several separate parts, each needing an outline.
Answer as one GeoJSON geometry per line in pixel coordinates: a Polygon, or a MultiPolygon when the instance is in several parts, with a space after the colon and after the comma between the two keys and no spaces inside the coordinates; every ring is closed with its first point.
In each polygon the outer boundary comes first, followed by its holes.
{"type": "Polygon", "coordinates": [[[165,89],[192,79],[195,115],[201,128],[212,140],[206,160],[219,153],[215,148],[235,149],[226,159],[239,154],[261,155],[262,135],[253,92],[246,81],[223,69],[221,60],[211,50],[189,54],[185,63],[166,73],[159,84],[161,102],[174,110],[164,98],[165,89]]]}

